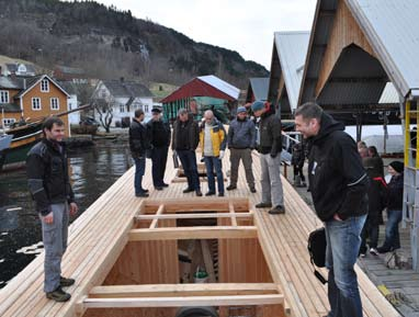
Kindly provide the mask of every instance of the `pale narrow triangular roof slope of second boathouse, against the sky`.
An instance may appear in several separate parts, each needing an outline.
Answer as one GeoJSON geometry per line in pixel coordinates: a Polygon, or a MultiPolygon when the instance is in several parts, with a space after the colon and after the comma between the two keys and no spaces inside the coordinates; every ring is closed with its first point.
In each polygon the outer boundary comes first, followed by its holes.
{"type": "Polygon", "coordinates": [[[297,107],[308,41],[308,31],[275,32],[274,45],[280,60],[280,71],[282,71],[284,78],[291,111],[297,107]]]}

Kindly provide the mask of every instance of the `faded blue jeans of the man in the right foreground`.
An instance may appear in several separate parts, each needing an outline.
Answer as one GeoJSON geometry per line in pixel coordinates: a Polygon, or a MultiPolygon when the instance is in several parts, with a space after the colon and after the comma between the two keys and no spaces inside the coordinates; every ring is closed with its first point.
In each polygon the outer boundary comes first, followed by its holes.
{"type": "Polygon", "coordinates": [[[326,228],[326,267],[329,269],[328,317],[362,317],[362,304],[358,288],[356,262],[361,245],[361,231],[366,215],[346,220],[330,220],[326,228]]]}

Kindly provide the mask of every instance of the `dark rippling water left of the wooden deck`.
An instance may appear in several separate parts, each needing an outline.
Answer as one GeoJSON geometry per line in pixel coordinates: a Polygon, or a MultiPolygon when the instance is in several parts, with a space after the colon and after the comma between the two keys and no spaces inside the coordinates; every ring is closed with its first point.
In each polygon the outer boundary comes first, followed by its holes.
{"type": "MultiPolygon", "coordinates": [[[[127,170],[131,158],[126,141],[111,140],[68,154],[79,216],[127,170]]],[[[42,248],[41,223],[27,191],[25,170],[1,173],[0,287],[22,271],[42,248]]]]}

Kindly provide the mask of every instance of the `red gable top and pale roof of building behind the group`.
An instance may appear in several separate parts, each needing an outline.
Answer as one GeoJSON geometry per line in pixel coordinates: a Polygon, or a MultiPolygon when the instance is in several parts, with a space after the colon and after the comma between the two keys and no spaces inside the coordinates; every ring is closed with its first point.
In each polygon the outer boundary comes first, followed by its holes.
{"type": "Polygon", "coordinates": [[[161,100],[162,103],[172,102],[193,97],[213,97],[235,101],[240,90],[233,84],[213,76],[201,76],[192,79],[171,94],[161,100]]]}

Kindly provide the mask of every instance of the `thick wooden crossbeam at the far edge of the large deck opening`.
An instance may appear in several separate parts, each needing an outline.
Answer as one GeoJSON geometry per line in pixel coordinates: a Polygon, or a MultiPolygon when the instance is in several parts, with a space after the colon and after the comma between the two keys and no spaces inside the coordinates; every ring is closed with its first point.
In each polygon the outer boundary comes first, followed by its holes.
{"type": "Polygon", "coordinates": [[[257,238],[254,226],[180,227],[156,229],[132,229],[129,241],[184,240],[184,239],[245,239],[257,238]]]}

